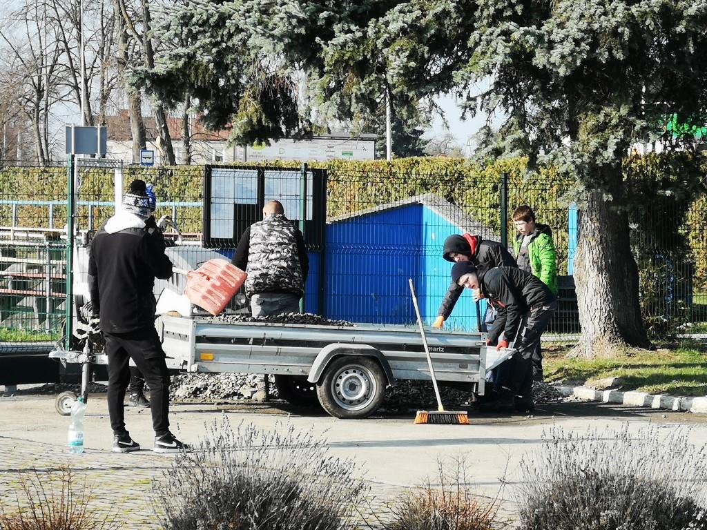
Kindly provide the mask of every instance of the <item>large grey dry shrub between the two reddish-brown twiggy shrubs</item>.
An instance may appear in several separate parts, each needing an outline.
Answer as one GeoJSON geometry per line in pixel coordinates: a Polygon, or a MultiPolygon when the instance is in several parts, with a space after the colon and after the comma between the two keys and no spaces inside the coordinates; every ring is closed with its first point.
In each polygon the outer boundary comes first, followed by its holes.
{"type": "Polygon", "coordinates": [[[193,452],[178,454],[153,501],[166,530],[338,530],[368,488],[358,465],[292,426],[261,431],[224,416],[193,452]]]}

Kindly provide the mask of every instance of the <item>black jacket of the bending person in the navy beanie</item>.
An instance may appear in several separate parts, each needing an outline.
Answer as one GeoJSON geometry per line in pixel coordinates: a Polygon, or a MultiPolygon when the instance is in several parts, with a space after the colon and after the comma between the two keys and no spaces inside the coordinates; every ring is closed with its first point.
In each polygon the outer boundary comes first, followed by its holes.
{"type": "Polygon", "coordinates": [[[507,341],[513,341],[523,314],[556,300],[547,285],[517,267],[496,267],[479,280],[481,292],[498,310],[498,316],[487,336],[491,343],[498,340],[502,331],[507,341]]]}

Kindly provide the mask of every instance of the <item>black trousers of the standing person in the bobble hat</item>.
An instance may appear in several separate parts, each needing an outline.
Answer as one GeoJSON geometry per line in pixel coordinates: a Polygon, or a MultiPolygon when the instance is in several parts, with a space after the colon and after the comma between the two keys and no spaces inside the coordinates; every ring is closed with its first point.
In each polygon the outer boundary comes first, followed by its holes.
{"type": "Polygon", "coordinates": [[[150,387],[152,426],[157,436],[169,432],[170,376],[165,352],[154,328],[130,333],[105,334],[108,355],[108,413],[114,434],[125,431],[123,400],[130,381],[132,358],[150,387]]]}

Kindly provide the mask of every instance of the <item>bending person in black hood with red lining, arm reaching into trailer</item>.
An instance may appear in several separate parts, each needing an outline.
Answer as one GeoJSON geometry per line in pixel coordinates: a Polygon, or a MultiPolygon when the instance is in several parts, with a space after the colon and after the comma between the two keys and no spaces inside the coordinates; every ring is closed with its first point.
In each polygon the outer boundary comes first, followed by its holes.
{"type": "MultiPolygon", "coordinates": [[[[515,259],[508,254],[506,247],[495,241],[482,240],[480,235],[450,235],[444,242],[443,252],[444,259],[452,261],[452,263],[459,263],[460,261],[472,263],[481,278],[484,277],[486,271],[493,269],[493,267],[516,266],[515,259]]],[[[450,283],[447,294],[445,294],[437,313],[437,319],[432,324],[433,327],[441,328],[443,326],[444,321],[452,314],[452,310],[457,305],[457,300],[459,300],[463,290],[464,287],[455,281],[450,283]]],[[[477,293],[475,293],[474,302],[477,300],[477,293]]],[[[481,331],[486,331],[486,325],[493,322],[492,314],[493,309],[489,305],[486,309],[481,331]]]]}

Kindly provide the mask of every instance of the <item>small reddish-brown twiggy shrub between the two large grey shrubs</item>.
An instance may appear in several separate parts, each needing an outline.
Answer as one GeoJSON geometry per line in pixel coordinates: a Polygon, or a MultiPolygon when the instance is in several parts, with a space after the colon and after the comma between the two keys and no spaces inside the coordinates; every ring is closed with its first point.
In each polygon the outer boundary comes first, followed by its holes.
{"type": "Polygon", "coordinates": [[[455,460],[451,471],[438,464],[440,486],[426,485],[401,495],[386,530],[491,530],[498,505],[477,497],[467,486],[467,466],[455,460]]]}

